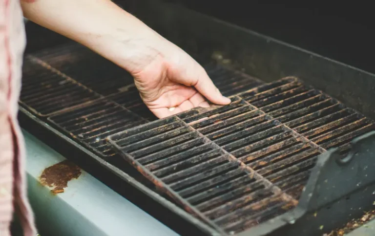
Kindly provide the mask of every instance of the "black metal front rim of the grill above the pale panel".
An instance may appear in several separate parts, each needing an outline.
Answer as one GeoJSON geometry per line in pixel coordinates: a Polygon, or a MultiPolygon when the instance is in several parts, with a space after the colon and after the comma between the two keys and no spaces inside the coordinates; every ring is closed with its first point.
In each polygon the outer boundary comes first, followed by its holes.
{"type": "MultiPolygon", "coordinates": [[[[133,168],[127,168],[126,163],[118,165],[113,160],[104,160],[22,107],[20,107],[19,120],[22,127],[27,127],[27,130],[38,139],[43,140],[45,145],[58,150],[65,158],[78,163],[80,167],[88,170],[106,186],[129,199],[142,210],[146,210],[147,213],[161,220],[163,224],[173,228],[174,231],[180,232],[180,234],[182,231],[182,233],[189,232],[192,235],[218,235],[172,201],[155,192],[152,186],[142,179],[142,175],[134,172],[133,168]]],[[[41,167],[43,169],[46,166],[41,167]]],[[[43,203],[41,204],[43,205],[43,203]]]]}

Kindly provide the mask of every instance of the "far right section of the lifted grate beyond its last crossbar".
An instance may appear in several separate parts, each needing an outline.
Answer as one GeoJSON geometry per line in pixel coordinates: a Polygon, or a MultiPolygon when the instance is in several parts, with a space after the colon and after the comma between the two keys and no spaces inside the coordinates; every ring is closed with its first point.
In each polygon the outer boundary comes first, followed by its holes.
{"type": "Polygon", "coordinates": [[[259,86],[239,95],[323,149],[338,147],[374,129],[374,122],[296,78],[259,86]]]}

